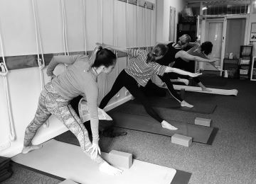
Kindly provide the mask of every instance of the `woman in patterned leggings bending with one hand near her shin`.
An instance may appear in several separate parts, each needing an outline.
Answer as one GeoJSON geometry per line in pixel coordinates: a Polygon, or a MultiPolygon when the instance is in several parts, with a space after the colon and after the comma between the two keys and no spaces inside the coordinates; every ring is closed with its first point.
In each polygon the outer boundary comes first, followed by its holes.
{"type": "Polygon", "coordinates": [[[31,141],[39,127],[53,114],[64,123],[68,130],[75,134],[82,151],[99,164],[100,171],[110,175],[121,174],[122,170],[110,166],[99,156],[100,147],[98,145],[97,98],[99,89],[97,76],[102,73],[110,73],[116,61],[116,55],[110,50],[102,49],[102,47],[96,47],[90,58],[85,55],[54,56],[47,69],[47,74],[51,76],[52,81],[46,84],[41,91],[36,115],[26,127],[22,153],[26,154],[28,151],[41,148],[41,145],[33,145],[31,141]],[[53,71],[61,63],[70,64],[70,66],[65,72],[55,76],[53,71]],[[81,94],[87,98],[92,143],[85,126],[70,105],[70,100],[81,94]]]}

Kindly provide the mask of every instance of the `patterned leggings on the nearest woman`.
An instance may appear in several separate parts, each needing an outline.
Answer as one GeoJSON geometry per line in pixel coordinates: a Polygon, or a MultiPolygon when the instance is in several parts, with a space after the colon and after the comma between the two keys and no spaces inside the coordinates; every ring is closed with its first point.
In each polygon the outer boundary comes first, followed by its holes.
{"type": "MultiPolygon", "coordinates": [[[[86,149],[92,146],[92,144],[85,126],[82,124],[80,117],[75,113],[75,110],[73,110],[69,104],[69,100],[60,96],[51,83],[46,84],[41,92],[36,115],[28,127],[26,127],[24,146],[31,145],[31,141],[39,127],[41,127],[52,114],[64,122],[68,130],[75,134],[75,137],[78,138],[82,151],[90,156],[90,153],[87,152],[86,149]]],[[[100,164],[103,161],[104,160],[97,155],[95,162],[100,164]]]]}

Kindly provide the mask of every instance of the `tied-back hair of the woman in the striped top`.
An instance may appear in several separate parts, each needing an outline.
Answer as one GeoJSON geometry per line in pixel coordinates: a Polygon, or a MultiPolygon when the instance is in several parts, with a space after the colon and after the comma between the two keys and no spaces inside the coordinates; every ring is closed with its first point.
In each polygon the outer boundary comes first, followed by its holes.
{"type": "Polygon", "coordinates": [[[156,57],[164,56],[168,51],[167,45],[157,44],[151,52],[149,52],[146,56],[146,63],[148,62],[156,62],[156,57]]]}

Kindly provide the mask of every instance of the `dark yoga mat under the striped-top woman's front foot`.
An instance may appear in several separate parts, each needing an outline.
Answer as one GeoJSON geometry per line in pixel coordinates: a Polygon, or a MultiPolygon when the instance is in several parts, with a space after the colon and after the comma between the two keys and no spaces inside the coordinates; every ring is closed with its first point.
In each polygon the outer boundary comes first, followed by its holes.
{"type": "Polygon", "coordinates": [[[129,130],[137,130],[141,132],[149,132],[152,134],[161,134],[171,137],[173,134],[183,134],[188,137],[193,137],[193,142],[210,144],[209,138],[214,130],[213,127],[205,127],[201,125],[193,125],[178,121],[169,121],[178,130],[167,130],[161,127],[161,124],[152,117],[142,115],[132,115],[119,112],[109,112],[109,115],[114,120],[115,127],[122,127],[129,130]]]}

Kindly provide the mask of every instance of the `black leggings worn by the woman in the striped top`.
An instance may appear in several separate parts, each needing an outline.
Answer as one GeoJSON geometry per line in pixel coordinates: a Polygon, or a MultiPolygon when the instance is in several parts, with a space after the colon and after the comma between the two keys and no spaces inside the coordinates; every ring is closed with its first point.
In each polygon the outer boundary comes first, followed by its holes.
{"type": "Polygon", "coordinates": [[[117,79],[114,81],[114,84],[110,90],[109,93],[102,99],[100,103],[100,108],[105,108],[107,103],[110,101],[110,99],[122,88],[125,87],[129,91],[129,93],[132,94],[137,100],[139,100],[142,105],[144,106],[146,113],[151,115],[155,120],[158,122],[162,122],[163,119],[154,111],[153,108],[151,108],[151,105],[149,103],[149,100],[146,98],[144,93],[139,89],[139,86],[137,84],[137,81],[127,74],[124,69],[121,71],[121,73],[117,76],[117,79]]]}

